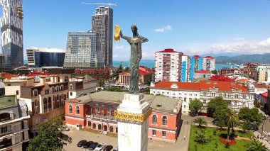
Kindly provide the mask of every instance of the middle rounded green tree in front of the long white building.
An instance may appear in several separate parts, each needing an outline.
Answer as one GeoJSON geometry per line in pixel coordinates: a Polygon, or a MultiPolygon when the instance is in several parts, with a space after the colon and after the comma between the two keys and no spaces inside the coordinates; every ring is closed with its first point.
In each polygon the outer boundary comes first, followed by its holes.
{"type": "Polygon", "coordinates": [[[207,106],[207,112],[210,114],[215,113],[215,111],[227,109],[227,101],[222,98],[222,96],[218,96],[215,99],[210,99],[210,102],[207,106]]]}

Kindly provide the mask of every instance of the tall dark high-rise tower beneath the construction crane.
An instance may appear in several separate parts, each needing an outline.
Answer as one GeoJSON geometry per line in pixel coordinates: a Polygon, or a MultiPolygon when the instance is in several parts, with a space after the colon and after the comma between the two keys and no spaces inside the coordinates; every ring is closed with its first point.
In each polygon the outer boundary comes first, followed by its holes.
{"type": "Polygon", "coordinates": [[[99,33],[104,65],[112,66],[112,29],[113,10],[109,6],[100,6],[92,15],[92,31],[99,33]]]}

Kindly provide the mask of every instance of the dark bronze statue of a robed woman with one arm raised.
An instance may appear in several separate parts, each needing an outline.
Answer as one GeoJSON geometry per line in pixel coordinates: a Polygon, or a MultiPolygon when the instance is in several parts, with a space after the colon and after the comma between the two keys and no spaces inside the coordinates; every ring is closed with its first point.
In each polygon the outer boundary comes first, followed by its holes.
{"type": "MultiPolygon", "coordinates": [[[[117,28],[117,27],[116,27],[117,28]]],[[[139,62],[141,60],[141,43],[148,41],[139,35],[138,28],[135,25],[131,26],[133,37],[124,36],[119,28],[119,35],[125,39],[131,47],[131,55],[129,59],[129,69],[131,72],[129,82],[129,94],[139,94],[139,62]]]]}

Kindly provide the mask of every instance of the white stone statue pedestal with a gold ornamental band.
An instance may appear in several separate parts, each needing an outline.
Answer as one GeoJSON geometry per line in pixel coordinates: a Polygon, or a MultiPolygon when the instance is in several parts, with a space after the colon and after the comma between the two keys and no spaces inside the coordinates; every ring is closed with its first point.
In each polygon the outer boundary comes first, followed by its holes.
{"type": "Polygon", "coordinates": [[[148,116],[151,113],[152,108],[144,101],[144,94],[124,94],[124,100],[115,112],[120,151],[147,150],[148,116]]]}

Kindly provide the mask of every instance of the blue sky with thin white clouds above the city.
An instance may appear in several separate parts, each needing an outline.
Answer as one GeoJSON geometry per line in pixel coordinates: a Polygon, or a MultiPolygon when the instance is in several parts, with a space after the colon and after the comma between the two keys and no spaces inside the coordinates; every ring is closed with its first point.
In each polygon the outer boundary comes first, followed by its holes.
{"type": "MultiPolygon", "coordinates": [[[[68,32],[90,30],[100,5],[82,2],[117,4],[114,25],[131,36],[135,24],[149,40],[144,60],[165,48],[202,56],[270,52],[270,0],[23,0],[24,58],[30,47],[65,50],[68,32]]],[[[129,44],[114,43],[113,55],[129,60],[129,44]]]]}

